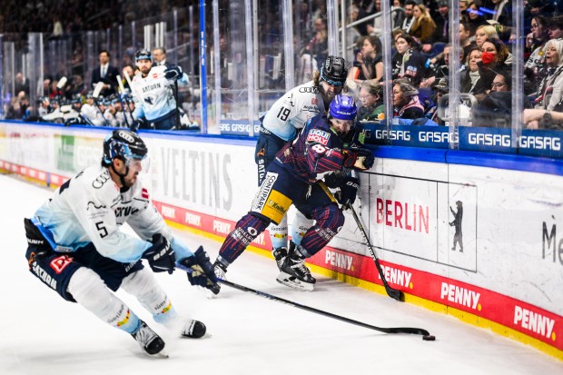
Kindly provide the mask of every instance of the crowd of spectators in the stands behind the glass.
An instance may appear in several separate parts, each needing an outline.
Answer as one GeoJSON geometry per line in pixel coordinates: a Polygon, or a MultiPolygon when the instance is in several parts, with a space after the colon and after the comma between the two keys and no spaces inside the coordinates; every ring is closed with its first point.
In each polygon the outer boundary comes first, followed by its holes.
{"type": "MultiPolygon", "coordinates": [[[[392,32],[392,96],[394,116],[405,119],[427,118],[430,123],[444,124],[438,117],[437,104],[449,91],[449,2],[443,0],[353,0],[349,2],[347,22],[360,20],[368,15],[380,12],[381,1],[389,1],[393,12],[392,32]],[[402,11],[404,10],[404,12],[402,11]]],[[[460,0],[459,8],[459,54],[460,91],[470,94],[475,102],[461,104],[460,113],[479,113],[489,111],[494,106],[503,106],[494,111],[499,119],[487,115],[475,115],[470,119],[473,126],[510,126],[511,66],[515,58],[525,61],[525,81],[523,98],[524,108],[536,108],[550,111],[563,111],[563,2],[549,0],[524,1],[524,32],[526,50],[524,56],[512,54],[512,41],[515,37],[512,22],[512,6],[509,0],[460,0]],[[471,111],[469,111],[469,107],[471,111]],[[491,121],[494,120],[494,121],[491,121]]],[[[221,2],[224,7],[228,3],[221,2]]],[[[0,15],[0,32],[41,31],[50,33],[52,38],[73,35],[84,30],[99,30],[130,22],[135,18],[162,14],[175,6],[185,6],[183,2],[168,1],[154,3],[148,1],[104,0],[85,1],[80,5],[68,0],[27,2],[18,5],[8,0],[7,12],[0,15]],[[9,18],[8,16],[9,15],[9,18]],[[53,15],[53,16],[50,16],[53,15]],[[26,19],[25,23],[20,20],[26,19]],[[24,29],[25,27],[25,29],[24,29]]],[[[326,2],[314,0],[301,2],[299,13],[302,25],[295,25],[294,38],[296,72],[298,81],[309,79],[314,70],[328,56],[329,35],[327,29],[326,2]],[[311,6],[311,9],[310,9],[311,6]],[[297,33],[297,28],[300,29],[297,33]]],[[[267,4],[260,5],[268,12],[261,13],[259,27],[262,45],[272,44],[272,35],[281,35],[279,9],[267,4]]],[[[233,11],[234,8],[229,8],[233,11]]],[[[222,18],[222,40],[227,42],[228,22],[230,17],[222,18]]],[[[350,61],[349,87],[356,95],[358,103],[362,92],[364,99],[372,93],[367,103],[377,104],[380,108],[384,66],[381,48],[381,19],[356,25],[351,30],[355,50],[350,61]]],[[[387,34],[385,35],[387,37],[387,34]]],[[[227,47],[228,48],[228,47],[227,47]]],[[[87,73],[84,73],[87,74],[87,73]]],[[[84,82],[83,74],[75,74],[72,82],[84,82]]],[[[282,81],[282,75],[277,76],[282,81]]],[[[50,78],[51,87],[45,93],[52,94],[56,79],[50,78]]],[[[222,82],[222,87],[226,87],[222,82]]],[[[390,83],[391,84],[391,83],[390,83]]],[[[84,91],[83,94],[87,92],[84,91]]],[[[18,95],[15,98],[22,98],[18,95]]],[[[13,98],[13,100],[16,100],[13,98]]],[[[25,101],[24,101],[25,102],[25,101]]],[[[21,112],[20,105],[20,112],[21,112]]],[[[361,111],[366,118],[380,118],[382,111],[361,111]]],[[[12,113],[18,113],[13,111],[12,113]]],[[[482,114],[482,113],[481,113],[482,114]]],[[[469,115],[469,114],[468,114],[469,115]]],[[[543,117],[542,117],[543,118],[543,117]]],[[[546,117],[548,118],[548,116],[546,117]]],[[[558,127],[559,125],[541,121],[528,123],[528,127],[558,127]]]]}

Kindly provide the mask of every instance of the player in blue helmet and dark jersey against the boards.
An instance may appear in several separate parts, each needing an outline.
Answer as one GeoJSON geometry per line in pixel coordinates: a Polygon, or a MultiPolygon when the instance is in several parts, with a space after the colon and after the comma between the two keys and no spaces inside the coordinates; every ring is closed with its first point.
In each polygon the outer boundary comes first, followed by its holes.
{"type": "MultiPolygon", "coordinates": [[[[316,223],[305,233],[301,244],[285,257],[277,281],[312,291],[314,279],[311,280],[303,263],[321,251],[344,224],[341,208],[327,184],[320,180],[324,178],[329,183],[332,173],[347,169],[365,171],[374,162],[370,150],[344,147],[353,133],[356,113],[351,96],[336,95],[328,116],[319,113],[311,118],[295,141],[286,143],[276,154],[254,196],[251,211],[237,222],[234,231],[222,243],[214,263],[219,277],[271,222],[281,222],[294,204],[316,223]]],[[[330,187],[341,188],[340,202],[345,206],[355,199],[358,183],[344,176],[338,186],[331,183],[330,187]]]]}

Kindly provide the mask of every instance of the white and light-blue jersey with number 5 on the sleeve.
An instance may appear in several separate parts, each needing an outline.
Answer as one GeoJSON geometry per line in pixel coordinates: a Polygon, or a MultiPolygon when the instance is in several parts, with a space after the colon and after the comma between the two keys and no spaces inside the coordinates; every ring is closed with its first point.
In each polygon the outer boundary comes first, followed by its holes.
{"type": "Polygon", "coordinates": [[[107,258],[135,262],[152,246],[148,241],[153,234],[161,233],[171,242],[177,260],[193,254],[174,239],[140,179],[121,192],[102,165],[86,168],[61,185],[35,212],[34,222],[57,252],[75,252],[93,242],[107,258]],[[120,230],[125,222],[140,238],[120,230]]]}

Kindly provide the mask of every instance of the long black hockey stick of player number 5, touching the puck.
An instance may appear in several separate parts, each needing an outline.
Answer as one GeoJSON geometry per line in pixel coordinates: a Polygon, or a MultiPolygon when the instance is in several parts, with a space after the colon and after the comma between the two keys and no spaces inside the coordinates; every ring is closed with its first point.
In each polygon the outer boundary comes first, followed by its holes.
{"type": "Polygon", "coordinates": [[[301,309],[301,310],[309,311],[309,312],[314,312],[315,314],[319,314],[319,315],[326,316],[328,318],[336,319],[337,321],[344,321],[344,322],[354,324],[354,325],[357,325],[357,326],[360,326],[360,327],[363,327],[363,328],[368,328],[368,329],[373,330],[373,331],[380,331],[380,332],[383,332],[383,333],[405,333],[405,334],[412,334],[412,335],[422,335],[423,337],[430,336],[429,331],[423,330],[421,328],[411,328],[411,327],[384,328],[384,327],[377,327],[377,326],[373,326],[373,325],[370,325],[370,324],[367,324],[367,323],[364,323],[364,322],[361,322],[361,321],[354,321],[353,319],[346,318],[346,317],[343,317],[341,315],[336,315],[336,314],[333,314],[332,312],[322,311],[322,310],[319,310],[319,309],[315,309],[314,307],[301,305],[301,303],[285,300],[283,298],[276,297],[272,294],[268,294],[268,293],[265,293],[263,291],[256,291],[256,290],[253,290],[252,288],[245,287],[243,285],[234,283],[232,281],[226,281],[226,280],[219,279],[219,282],[221,282],[224,285],[230,286],[231,288],[237,289],[239,291],[245,291],[245,292],[248,292],[248,293],[256,294],[257,296],[266,298],[266,299],[271,300],[271,301],[281,302],[283,304],[290,305],[290,306],[295,307],[297,309],[301,309]]]}

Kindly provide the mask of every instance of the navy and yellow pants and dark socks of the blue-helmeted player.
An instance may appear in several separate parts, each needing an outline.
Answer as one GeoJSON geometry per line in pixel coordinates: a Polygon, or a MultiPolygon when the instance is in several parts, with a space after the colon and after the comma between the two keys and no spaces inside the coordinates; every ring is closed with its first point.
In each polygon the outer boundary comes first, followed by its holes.
{"type": "Polygon", "coordinates": [[[248,212],[222,244],[219,255],[234,262],[271,222],[279,223],[291,204],[315,225],[305,232],[301,249],[305,257],[319,252],[341,230],[344,214],[323,183],[309,185],[281,166],[272,164],[248,212]]]}

